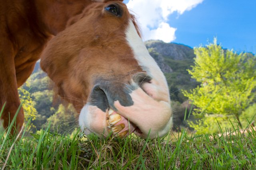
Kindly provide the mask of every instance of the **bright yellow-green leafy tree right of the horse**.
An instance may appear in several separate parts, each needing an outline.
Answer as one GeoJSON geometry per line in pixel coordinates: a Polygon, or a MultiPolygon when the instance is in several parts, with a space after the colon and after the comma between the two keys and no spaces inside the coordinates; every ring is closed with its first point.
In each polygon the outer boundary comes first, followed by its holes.
{"type": "Polygon", "coordinates": [[[255,56],[224,50],[216,39],[206,47],[194,48],[194,52],[195,65],[188,72],[200,86],[182,91],[197,107],[193,114],[201,118],[234,116],[242,127],[240,115],[255,102],[255,56]]]}

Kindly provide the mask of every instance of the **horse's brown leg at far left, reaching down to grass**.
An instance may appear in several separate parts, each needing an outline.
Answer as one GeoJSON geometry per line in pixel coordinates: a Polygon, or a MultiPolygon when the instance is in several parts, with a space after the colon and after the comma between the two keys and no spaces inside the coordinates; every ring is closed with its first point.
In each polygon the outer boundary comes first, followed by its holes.
{"type": "MultiPolygon", "coordinates": [[[[7,128],[20,106],[20,100],[14,64],[14,49],[12,48],[12,43],[7,38],[2,37],[0,39],[0,109],[2,109],[4,103],[6,105],[1,119],[4,121],[4,128],[7,128]]],[[[11,133],[19,132],[23,123],[24,113],[21,108],[11,133]]]]}

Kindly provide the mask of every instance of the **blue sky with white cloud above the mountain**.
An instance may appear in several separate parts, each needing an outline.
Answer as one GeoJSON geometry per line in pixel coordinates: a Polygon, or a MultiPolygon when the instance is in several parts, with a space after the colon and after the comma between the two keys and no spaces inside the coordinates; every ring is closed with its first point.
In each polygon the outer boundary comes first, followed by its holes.
{"type": "Polygon", "coordinates": [[[198,47],[213,42],[256,54],[256,0],[124,0],[143,40],[198,47]]]}

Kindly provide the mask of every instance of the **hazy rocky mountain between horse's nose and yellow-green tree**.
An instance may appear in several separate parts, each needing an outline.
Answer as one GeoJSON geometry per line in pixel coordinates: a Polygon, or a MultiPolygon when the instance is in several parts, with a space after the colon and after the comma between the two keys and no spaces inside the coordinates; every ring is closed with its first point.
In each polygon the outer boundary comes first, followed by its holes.
{"type": "Polygon", "coordinates": [[[189,90],[198,85],[187,71],[194,65],[194,50],[187,45],[164,43],[160,40],[149,40],[145,45],[166,76],[171,100],[180,103],[186,101],[180,90],[189,90]]]}

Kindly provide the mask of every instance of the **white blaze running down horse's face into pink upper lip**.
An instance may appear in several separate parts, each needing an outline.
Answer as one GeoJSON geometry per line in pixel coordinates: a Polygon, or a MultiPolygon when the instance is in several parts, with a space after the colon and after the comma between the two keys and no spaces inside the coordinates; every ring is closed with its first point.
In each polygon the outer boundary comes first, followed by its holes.
{"type": "Polygon", "coordinates": [[[124,117],[138,125],[142,132],[147,133],[151,129],[150,137],[163,136],[172,127],[170,95],[166,78],[148,53],[131,20],[126,30],[126,40],[138,64],[152,77],[152,80],[142,86],[147,94],[140,88],[132,92],[133,106],[123,107],[115,102],[115,107],[120,114],[123,113],[124,117]]]}

